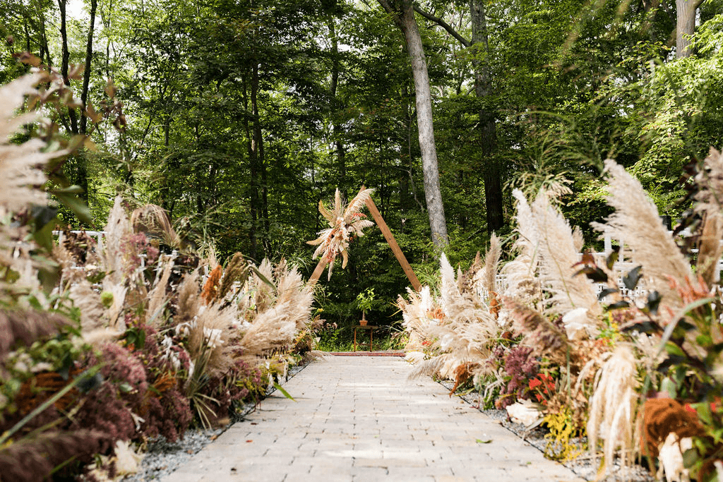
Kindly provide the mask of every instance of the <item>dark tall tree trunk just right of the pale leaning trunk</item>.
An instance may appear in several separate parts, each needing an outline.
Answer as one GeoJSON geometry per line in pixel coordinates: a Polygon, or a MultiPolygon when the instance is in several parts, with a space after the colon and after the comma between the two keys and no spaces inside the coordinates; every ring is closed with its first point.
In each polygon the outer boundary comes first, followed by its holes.
{"type": "MultiPolygon", "coordinates": [[[[487,16],[484,0],[470,0],[472,20],[472,48],[474,65],[474,92],[477,98],[486,98],[492,92],[489,75],[489,40],[487,38],[487,16]],[[484,59],[484,60],[483,60],[484,59]]],[[[487,208],[487,231],[502,228],[505,218],[502,214],[502,176],[500,163],[494,156],[497,145],[495,113],[487,108],[479,111],[480,154],[484,162],[484,204],[487,208]]]]}

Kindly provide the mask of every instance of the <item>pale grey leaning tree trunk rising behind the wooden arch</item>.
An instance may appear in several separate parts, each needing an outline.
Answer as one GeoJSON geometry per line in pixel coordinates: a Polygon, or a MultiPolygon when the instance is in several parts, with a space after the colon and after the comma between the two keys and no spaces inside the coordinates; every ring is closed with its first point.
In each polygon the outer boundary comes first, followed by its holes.
{"type": "Polygon", "coordinates": [[[429,226],[432,228],[432,242],[437,249],[448,244],[445,207],[442,205],[440,175],[437,167],[437,149],[435,130],[432,124],[432,92],[429,90],[427,59],[424,56],[422,36],[414,18],[414,7],[410,0],[377,0],[392,15],[406,40],[407,52],[411,60],[414,75],[416,98],[416,120],[419,129],[419,149],[422,152],[422,171],[424,173],[424,197],[427,199],[429,226]]]}

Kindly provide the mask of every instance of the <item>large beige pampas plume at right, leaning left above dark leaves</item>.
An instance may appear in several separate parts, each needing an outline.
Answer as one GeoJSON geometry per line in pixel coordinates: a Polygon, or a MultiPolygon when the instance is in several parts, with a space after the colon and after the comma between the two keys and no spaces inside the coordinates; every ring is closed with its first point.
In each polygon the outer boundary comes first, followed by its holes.
{"type": "Polygon", "coordinates": [[[690,277],[690,264],[677,249],[660,220],[658,210],[647,196],[640,181],[613,160],[605,161],[609,173],[607,204],[615,208],[604,224],[591,223],[600,232],[625,240],[630,257],[643,266],[646,288],[658,291],[663,303],[680,307],[680,298],[669,287],[668,277],[683,283],[690,277]]]}

